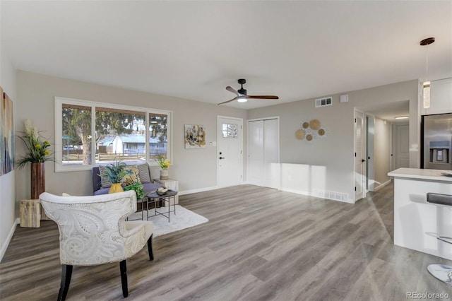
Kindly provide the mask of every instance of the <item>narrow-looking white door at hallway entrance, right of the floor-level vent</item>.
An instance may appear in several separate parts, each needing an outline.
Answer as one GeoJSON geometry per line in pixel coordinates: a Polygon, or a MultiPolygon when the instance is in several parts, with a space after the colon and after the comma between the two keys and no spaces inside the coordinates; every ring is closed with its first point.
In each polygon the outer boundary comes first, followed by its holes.
{"type": "Polygon", "coordinates": [[[364,174],[364,113],[355,110],[355,201],[364,197],[365,174],[364,174]]]}

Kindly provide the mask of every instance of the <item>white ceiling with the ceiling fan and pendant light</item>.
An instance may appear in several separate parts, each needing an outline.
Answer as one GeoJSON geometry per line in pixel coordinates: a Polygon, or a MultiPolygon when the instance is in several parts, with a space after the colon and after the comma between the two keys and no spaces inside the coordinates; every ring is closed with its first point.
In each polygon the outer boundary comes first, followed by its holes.
{"type": "Polygon", "coordinates": [[[16,69],[245,109],[452,76],[452,1],[1,1],[16,69]]]}

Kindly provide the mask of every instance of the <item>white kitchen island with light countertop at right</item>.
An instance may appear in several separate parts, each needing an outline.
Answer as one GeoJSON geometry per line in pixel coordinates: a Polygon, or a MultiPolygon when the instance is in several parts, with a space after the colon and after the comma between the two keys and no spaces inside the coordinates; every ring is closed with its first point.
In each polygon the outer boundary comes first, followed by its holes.
{"type": "Polygon", "coordinates": [[[452,237],[452,206],[427,203],[427,193],[452,194],[451,170],[399,168],[394,177],[394,244],[452,260],[452,244],[436,235],[452,237]]]}

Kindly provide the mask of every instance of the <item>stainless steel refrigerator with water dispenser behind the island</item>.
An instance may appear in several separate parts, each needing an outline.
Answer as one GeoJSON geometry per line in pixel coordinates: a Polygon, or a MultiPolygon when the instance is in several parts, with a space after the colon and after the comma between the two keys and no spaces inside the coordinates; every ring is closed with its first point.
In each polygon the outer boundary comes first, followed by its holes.
{"type": "Polygon", "coordinates": [[[452,113],[422,116],[421,166],[452,170],[452,113]]]}

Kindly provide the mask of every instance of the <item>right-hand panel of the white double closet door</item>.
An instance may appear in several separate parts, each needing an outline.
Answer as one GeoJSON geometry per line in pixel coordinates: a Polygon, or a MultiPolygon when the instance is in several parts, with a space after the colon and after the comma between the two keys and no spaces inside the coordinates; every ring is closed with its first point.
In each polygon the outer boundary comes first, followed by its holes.
{"type": "Polygon", "coordinates": [[[280,179],[278,119],[263,121],[263,163],[265,181],[263,186],[278,189],[280,179]]]}

